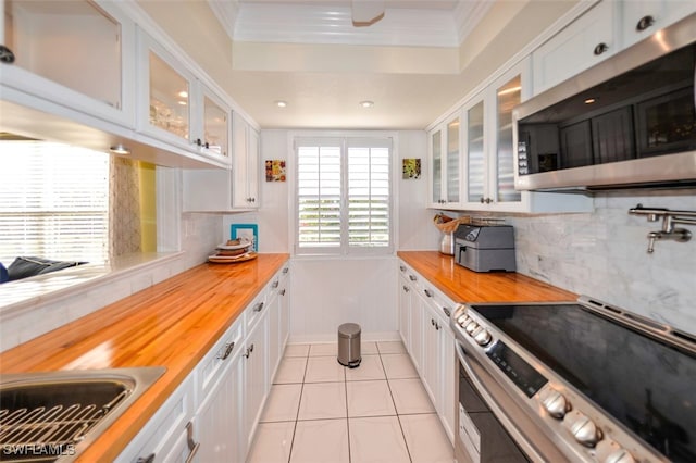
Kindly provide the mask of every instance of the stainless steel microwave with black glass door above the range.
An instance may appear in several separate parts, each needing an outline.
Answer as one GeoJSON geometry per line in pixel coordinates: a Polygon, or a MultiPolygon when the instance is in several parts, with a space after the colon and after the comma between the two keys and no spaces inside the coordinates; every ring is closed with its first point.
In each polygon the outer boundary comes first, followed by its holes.
{"type": "Polygon", "coordinates": [[[696,187],[696,14],[513,110],[520,190],[696,187]]]}

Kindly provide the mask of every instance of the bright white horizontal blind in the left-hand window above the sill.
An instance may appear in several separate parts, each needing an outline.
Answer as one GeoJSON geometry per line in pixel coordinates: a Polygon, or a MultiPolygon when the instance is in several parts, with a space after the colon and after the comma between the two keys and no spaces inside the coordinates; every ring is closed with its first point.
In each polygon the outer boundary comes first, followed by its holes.
{"type": "Polygon", "coordinates": [[[0,261],[18,255],[103,262],[109,154],[60,143],[3,141],[0,261]]]}

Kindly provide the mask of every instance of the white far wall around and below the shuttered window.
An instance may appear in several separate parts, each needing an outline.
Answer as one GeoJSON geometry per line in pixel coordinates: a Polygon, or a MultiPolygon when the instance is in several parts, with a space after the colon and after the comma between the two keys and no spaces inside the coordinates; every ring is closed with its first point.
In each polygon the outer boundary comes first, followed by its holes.
{"type": "MultiPolygon", "coordinates": [[[[420,179],[401,179],[401,159],[420,158],[425,168],[426,136],[422,130],[396,133],[394,190],[397,249],[436,249],[439,233],[426,207],[427,173],[420,179]]],[[[285,160],[287,182],[261,182],[258,212],[227,215],[222,233],[232,223],[259,225],[261,252],[290,252],[290,196],[295,191],[295,160],[289,130],[261,130],[261,165],[265,160],[285,160]]],[[[225,236],[226,236],[225,235],[225,236]]],[[[338,325],[359,323],[362,337],[397,336],[396,259],[301,258],[291,264],[290,336],[293,341],[334,340],[338,325]]]]}

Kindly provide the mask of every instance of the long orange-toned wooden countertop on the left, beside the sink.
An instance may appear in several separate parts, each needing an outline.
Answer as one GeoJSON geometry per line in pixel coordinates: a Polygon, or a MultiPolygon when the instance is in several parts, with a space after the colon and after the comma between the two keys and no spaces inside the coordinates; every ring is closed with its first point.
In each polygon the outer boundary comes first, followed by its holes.
{"type": "Polygon", "coordinates": [[[199,265],[0,353],[0,372],[166,366],[78,460],[112,461],[288,259],[199,265]]]}

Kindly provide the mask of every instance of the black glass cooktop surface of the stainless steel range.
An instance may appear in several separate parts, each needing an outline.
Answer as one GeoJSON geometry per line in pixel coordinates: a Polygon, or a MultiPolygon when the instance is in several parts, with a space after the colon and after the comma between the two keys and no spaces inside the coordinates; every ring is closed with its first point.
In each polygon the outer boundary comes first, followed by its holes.
{"type": "Polygon", "coordinates": [[[581,304],[472,305],[675,462],[696,461],[696,356],[581,304]]]}

